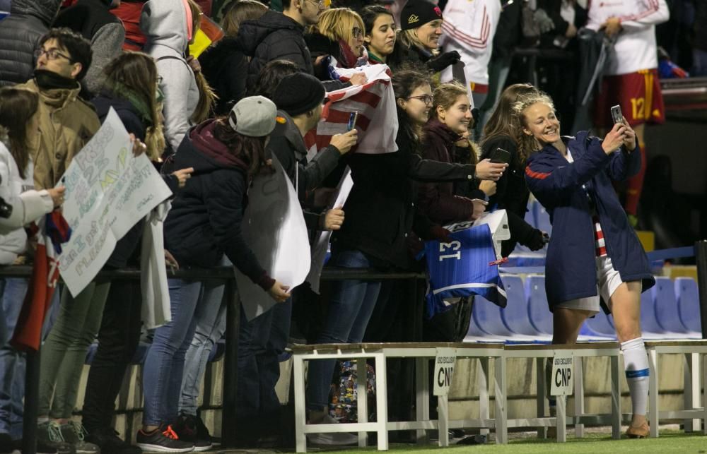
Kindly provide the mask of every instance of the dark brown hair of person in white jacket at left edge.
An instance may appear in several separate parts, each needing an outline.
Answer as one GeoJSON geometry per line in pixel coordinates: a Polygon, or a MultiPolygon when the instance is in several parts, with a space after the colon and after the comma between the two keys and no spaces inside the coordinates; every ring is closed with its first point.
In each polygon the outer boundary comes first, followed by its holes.
{"type": "MultiPolygon", "coordinates": [[[[0,88],[0,126],[7,130],[10,154],[17,163],[20,177],[30,163],[27,126],[39,107],[39,95],[22,88],[0,88]]],[[[0,131],[1,132],[1,131],[0,131]]],[[[36,131],[30,131],[35,132],[36,131]]]]}

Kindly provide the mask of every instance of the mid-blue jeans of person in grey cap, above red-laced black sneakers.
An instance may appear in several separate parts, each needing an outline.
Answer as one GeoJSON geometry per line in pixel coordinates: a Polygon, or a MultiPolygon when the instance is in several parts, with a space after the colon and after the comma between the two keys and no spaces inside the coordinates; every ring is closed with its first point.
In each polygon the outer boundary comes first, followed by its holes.
{"type": "MultiPolygon", "coordinates": [[[[197,307],[210,300],[220,281],[169,279],[172,320],[155,330],[143,371],[142,424],[172,424],[178,416],[185,354],[194,338],[197,307]]],[[[223,288],[221,288],[223,293],[223,288]]]]}

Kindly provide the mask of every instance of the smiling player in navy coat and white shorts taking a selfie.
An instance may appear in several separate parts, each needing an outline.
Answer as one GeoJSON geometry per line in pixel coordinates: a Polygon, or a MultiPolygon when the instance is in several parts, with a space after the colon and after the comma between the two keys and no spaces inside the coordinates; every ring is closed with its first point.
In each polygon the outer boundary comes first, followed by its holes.
{"type": "Polygon", "coordinates": [[[587,131],[561,137],[552,100],[541,92],[520,97],[513,112],[527,138],[521,149],[530,154],[525,179],[552,220],[545,265],[552,343],[575,343],[585,319],[608,309],[631,394],[633,417],[626,435],[648,436],[641,292],[655,279],[612,186],[612,180],[625,180],[641,169],[636,133],[623,119],[603,141],[587,131]]]}

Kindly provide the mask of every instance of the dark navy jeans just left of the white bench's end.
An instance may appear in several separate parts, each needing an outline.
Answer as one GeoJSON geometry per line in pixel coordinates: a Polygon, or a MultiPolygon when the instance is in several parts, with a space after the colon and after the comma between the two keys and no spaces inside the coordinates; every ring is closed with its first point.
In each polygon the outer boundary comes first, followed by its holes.
{"type": "Polygon", "coordinates": [[[275,385],[280,378],[279,355],[285,351],[290,335],[292,299],[248,321],[240,308],[238,328],[238,389],[236,415],[241,426],[267,422],[277,424],[280,410],[275,385]],[[268,420],[269,419],[269,420],[268,420]]]}

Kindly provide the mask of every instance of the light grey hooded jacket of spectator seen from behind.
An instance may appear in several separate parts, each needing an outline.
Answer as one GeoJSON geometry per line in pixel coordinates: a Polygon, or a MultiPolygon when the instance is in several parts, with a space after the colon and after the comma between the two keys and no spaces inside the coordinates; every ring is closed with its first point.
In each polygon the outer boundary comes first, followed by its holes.
{"type": "Polygon", "coordinates": [[[165,138],[177,150],[199,103],[197,80],[186,60],[187,12],[178,1],[147,1],[142,7],[140,28],[147,37],[144,52],[157,61],[157,71],[163,78],[160,88],[165,94],[165,138]]]}

